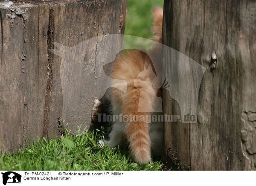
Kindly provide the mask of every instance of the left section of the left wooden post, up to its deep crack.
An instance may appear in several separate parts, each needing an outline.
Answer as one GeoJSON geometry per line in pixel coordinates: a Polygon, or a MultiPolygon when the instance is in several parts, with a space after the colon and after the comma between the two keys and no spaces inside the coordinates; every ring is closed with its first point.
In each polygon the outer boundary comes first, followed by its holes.
{"type": "Polygon", "coordinates": [[[3,36],[0,136],[3,149],[14,151],[27,140],[26,134],[30,139],[42,135],[47,81],[48,17],[44,15],[47,5],[3,6],[0,11],[3,36]]]}

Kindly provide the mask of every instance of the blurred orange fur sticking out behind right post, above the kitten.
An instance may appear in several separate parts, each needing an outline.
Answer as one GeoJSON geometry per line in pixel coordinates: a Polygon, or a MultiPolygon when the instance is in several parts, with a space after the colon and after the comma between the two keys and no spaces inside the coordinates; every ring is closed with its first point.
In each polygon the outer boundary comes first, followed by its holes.
{"type": "Polygon", "coordinates": [[[163,9],[155,7],[153,12],[154,25],[152,27],[154,41],[162,43],[162,23],[163,23],[163,9]]]}

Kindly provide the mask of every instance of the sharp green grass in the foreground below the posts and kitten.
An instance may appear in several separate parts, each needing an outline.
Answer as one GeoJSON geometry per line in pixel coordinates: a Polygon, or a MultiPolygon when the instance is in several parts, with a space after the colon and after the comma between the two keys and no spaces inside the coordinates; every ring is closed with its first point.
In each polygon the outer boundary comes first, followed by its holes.
{"type": "Polygon", "coordinates": [[[160,160],[138,165],[125,149],[99,147],[103,137],[103,131],[71,135],[66,130],[60,138],[29,140],[27,148],[1,155],[0,170],[162,170],[160,160]]]}

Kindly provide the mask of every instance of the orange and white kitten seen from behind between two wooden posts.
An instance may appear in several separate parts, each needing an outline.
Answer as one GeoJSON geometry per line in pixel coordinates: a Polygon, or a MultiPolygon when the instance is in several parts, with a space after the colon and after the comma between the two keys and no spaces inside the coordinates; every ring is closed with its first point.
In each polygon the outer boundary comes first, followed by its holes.
{"type": "MultiPolygon", "coordinates": [[[[163,9],[156,7],[153,17],[153,39],[162,42],[163,9]]],[[[111,90],[113,115],[145,116],[154,112],[161,79],[156,76],[151,59],[145,52],[138,49],[121,52],[114,61],[111,78],[126,81],[112,84],[112,87],[118,87],[111,90]],[[126,86],[126,93],[120,91],[126,86]]],[[[153,154],[161,154],[163,123],[134,120],[125,122],[118,119],[113,123],[109,140],[100,140],[99,143],[108,144],[112,148],[128,142],[134,160],[140,164],[148,163],[151,160],[151,150],[153,154]]]]}

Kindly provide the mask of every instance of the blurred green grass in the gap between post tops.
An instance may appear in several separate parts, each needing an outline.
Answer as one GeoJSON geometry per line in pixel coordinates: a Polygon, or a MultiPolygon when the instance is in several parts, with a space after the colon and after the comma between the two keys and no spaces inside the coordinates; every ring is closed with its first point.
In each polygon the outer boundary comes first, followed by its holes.
{"type": "MultiPolygon", "coordinates": [[[[152,12],[155,6],[163,8],[163,0],[128,0],[125,20],[125,35],[135,35],[150,39],[153,26],[152,12]]],[[[150,42],[150,41],[146,41],[150,42]]],[[[145,40],[141,38],[124,38],[124,47],[143,47],[145,40]]],[[[149,45],[146,43],[146,45],[149,45]]]]}

